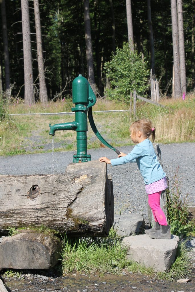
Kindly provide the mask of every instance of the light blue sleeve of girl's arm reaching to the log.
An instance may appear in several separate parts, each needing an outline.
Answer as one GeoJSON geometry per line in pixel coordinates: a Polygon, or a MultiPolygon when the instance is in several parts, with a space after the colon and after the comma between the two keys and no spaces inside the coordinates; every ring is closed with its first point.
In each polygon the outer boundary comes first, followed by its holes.
{"type": "Polygon", "coordinates": [[[140,157],[141,154],[142,154],[142,149],[138,144],[126,156],[119,157],[119,158],[116,158],[116,159],[111,159],[111,164],[112,164],[112,166],[116,166],[116,165],[126,164],[128,162],[136,162],[135,159],[140,157]]]}

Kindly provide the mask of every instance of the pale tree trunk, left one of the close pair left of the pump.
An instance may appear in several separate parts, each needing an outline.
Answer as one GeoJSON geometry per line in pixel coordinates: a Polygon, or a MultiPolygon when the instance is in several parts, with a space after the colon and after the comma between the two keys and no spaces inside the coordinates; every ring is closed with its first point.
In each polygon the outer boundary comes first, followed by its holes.
{"type": "Polygon", "coordinates": [[[28,0],[21,0],[21,9],[24,55],[24,102],[26,105],[31,105],[35,102],[35,99],[32,74],[32,52],[30,42],[30,16],[28,0]]]}

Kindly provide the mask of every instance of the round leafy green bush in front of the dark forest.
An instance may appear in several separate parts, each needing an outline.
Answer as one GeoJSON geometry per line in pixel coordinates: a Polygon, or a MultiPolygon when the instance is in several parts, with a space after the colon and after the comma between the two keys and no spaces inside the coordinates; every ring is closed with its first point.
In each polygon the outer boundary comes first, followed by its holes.
{"type": "Polygon", "coordinates": [[[130,51],[129,44],[116,49],[111,61],[105,63],[106,77],[110,81],[111,88],[106,88],[108,98],[114,100],[130,101],[130,93],[133,90],[143,95],[146,91],[147,62],[141,59],[137,51],[130,51]]]}

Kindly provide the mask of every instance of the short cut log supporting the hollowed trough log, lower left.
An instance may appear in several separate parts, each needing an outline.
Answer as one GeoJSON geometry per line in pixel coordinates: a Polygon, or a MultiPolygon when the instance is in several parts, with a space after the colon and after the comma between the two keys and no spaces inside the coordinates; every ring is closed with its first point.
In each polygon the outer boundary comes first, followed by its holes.
{"type": "Polygon", "coordinates": [[[61,244],[42,233],[21,232],[0,243],[0,269],[49,269],[60,257],[61,244]]]}

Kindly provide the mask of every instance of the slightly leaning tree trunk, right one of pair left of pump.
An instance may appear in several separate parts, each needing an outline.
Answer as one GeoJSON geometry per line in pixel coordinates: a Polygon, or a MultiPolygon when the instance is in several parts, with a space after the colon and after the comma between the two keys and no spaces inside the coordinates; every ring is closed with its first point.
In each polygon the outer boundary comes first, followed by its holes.
{"type": "Polygon", "coordinates": [[[43,49],[42,49],[42,38],[41,38],[41,21],[39,13],[39,0],[34,0],[34,19],[36,27],[37,37],[37,60],[39,68],[39,90],[40,90],[40,101],[48,102],[47,88],[45,83],[44,75],[44,60],[43,60],[43,49]]]}

